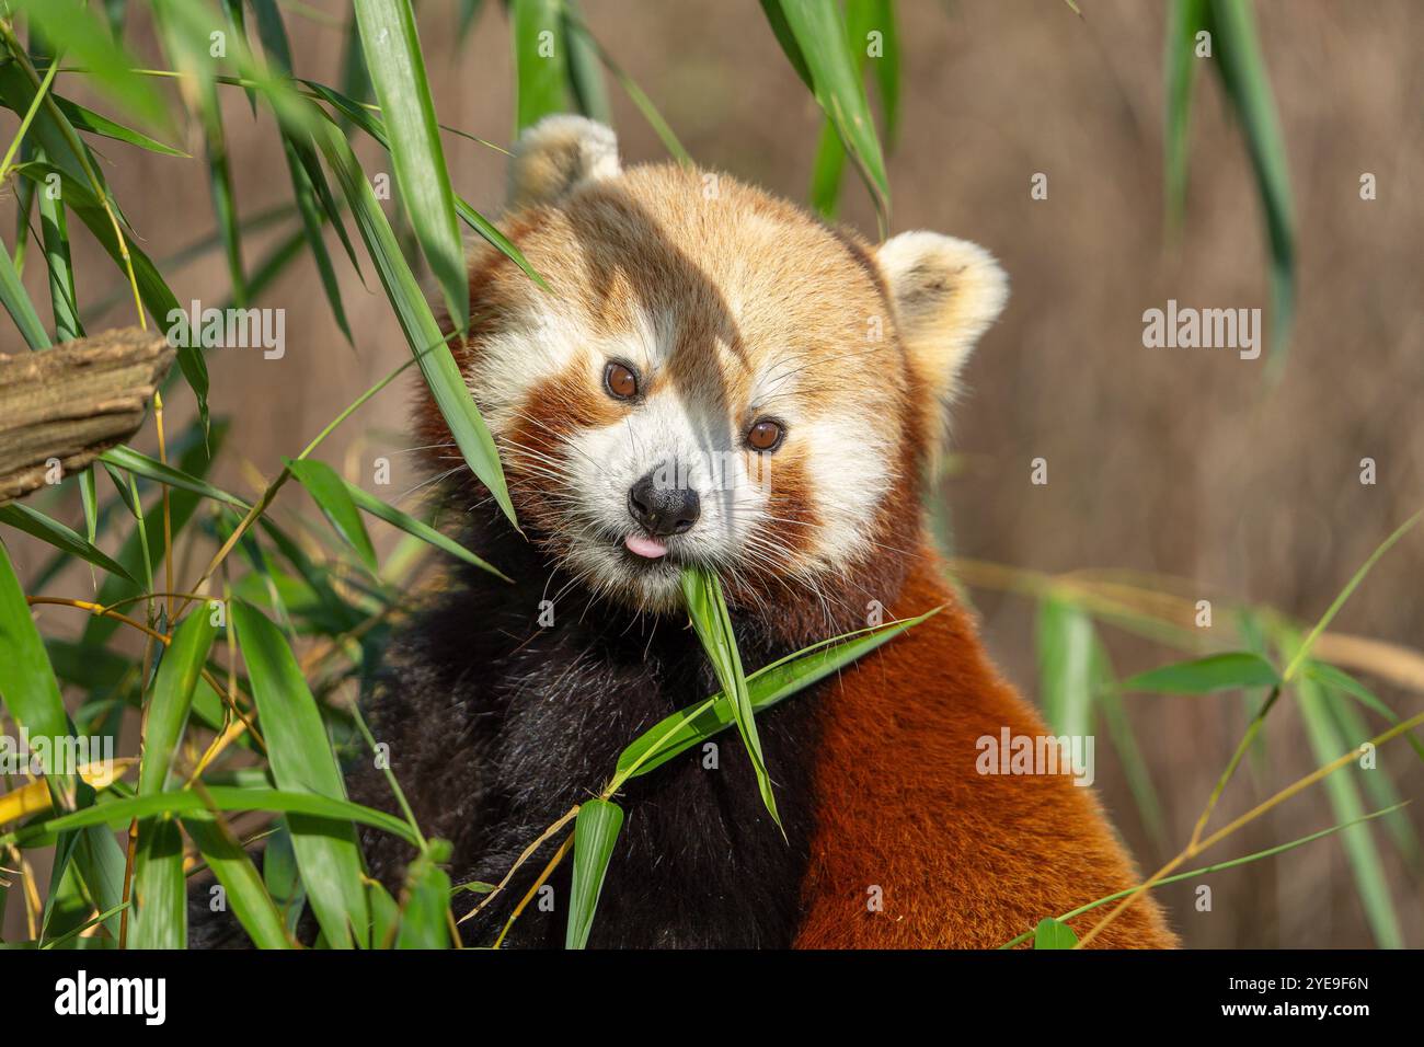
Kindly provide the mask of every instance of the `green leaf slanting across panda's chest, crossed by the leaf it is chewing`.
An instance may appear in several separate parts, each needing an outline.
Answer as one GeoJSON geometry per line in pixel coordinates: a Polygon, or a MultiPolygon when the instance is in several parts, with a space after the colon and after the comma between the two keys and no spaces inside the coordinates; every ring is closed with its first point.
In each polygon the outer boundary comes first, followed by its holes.
{"type": "MultiPolygon", "coordinates": [[[[746,678],[752,709],[762,712],[772,708],[938,613],[940,608],[934,608],[904,621],[832,637],[758,670],[746,678]]],[[[617,779],[645,775],[733,722],[732,702],[722,692],[674,712],[638,735],[619,754],[617,779]]]]}

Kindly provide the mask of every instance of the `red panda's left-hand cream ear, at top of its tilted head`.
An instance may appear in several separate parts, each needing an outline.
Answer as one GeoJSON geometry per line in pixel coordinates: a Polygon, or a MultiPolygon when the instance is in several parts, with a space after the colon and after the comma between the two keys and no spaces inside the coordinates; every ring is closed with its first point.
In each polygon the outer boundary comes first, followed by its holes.
{"type": "Polygon", "coordinates": [[[514,144],[510,208],[553,204],[580,182],[615,178],[621,170],[611,128],[585,117],[544,117],[514,144]]]}

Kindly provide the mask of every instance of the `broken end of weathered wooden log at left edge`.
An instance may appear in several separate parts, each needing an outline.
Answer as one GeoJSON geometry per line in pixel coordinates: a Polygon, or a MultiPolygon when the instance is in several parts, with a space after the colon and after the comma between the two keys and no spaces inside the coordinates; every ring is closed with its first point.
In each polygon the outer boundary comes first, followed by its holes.
{"type": "Polygon", "coordinates": [[[174,362],[161,333],[140,328],[0,355],[0,503],[88,466],[138,432],[174,362]]]}

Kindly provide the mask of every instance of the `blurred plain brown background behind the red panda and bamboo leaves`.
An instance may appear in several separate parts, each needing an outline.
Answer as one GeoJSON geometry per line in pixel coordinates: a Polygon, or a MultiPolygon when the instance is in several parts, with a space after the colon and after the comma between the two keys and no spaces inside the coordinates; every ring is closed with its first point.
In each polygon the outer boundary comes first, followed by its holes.
{"type": "MultiPolygon", "coordinates": [[[[904,0],[903,120],[889,161],[893,231],[928,228],[993,249],[1012,281],[1001,322],[968,366],[956,417],[958,472],[946,484],[954,548],[1021,568],[1126,568],[1188,580],[1220,601],[1269,604],[1313,621],[1370,551],[1424,506],[1424,7],[1410,0],[1354,4],[1267,0],[1257,24],[1290,158],[1299,236],[1299,311],[1282,380],[1265,358],[1233,350],[1149,350],[1142,312],[1175,298],[1203,308],[1267,313],[1266,248],[1242,138],[1219,84],[1198,77],[1190,188],[1179,248],[1163,236],[1162,111],[1166,6],[1079,0],[904,0]],[[1048,175],[1047,201],[1030,178],[1048,175]],[[1378,198],[1360,199],[1373,172],[1378,198]],[[1030,460],[1049,463],[1047,487],[1030,460]],[[1361,486],[1360,459],[1378,481],[1361,486]]],[[[130,38],[151,38],[135,9],[130,38]]],[[[347,4],[283,4],[298,73],[337,83],[347,4]]],[[[513,131],[508,24],[487,4],[454,50],[456,4],[420,4],[422,41],[443,123],[497,142],[513,131]]],[[[819,111],[779,51],[752,0],[585,0],[594,34],[661,108],[689,152],[709,167],[805,199],[819,111]]],[[[152,57],[150,54],[150,57],[152,57]]],[[[61,78],[60,90],[66,88],[61,78]]],[[[289,199],[271,121],[253,120],[228,88],[228,135],[244,215],[289,199]]],[[[609,84],[627,161],[665,157],[627,97],[609,84]]],[[[9,137],[13,121],[6,128],[9,137]]],[[[189,148],[194,148],[189,144],[189,148]]],[[[498,209],[503,157],[446,138],[457,189],[486,214],[498,209]]],[[[101,144],[107,177],[155,259],[205,236],[212,207],[201,161],[101,144]]],[[[367,171],[387,170],[370,142],[367,171]]],[[[13,228],[6,191],[0,228],[13,228]]],[[[847,174],[844,218],[867,235],[874,221],[847,174]]],[[[75,234],[81,239],[81,234],[75,234]]],[[[249,238],[246,262],[269,235],[249,238]]],[[[343,291],[356,350],[330,319],[310,259],[261,305],[286,308],[286,358],[209,353],[212,405],[232,420],[216,479],[252,490],[251,463],[271,477],[357,393],[407,356],[384,296],[349,272],[343,291]]],[[[80,301],[115,289],[117,274],[87,242],[75,258],[80,301]]],[[[165,268],[181,302],[221,303],[222,259],[211,252],[165,268]]],[[[41,266],[26,274],[44,302],[41,266]]],[[[101,318],[88,316],[90,329],[101,318]]],[[[131,322],[122,305],[105,323],[131,322]]],[[[13,328],[0,345],[20,349],[13,328]]],[[[1269,326],[1267,326],[1269,330],[1269,326]]],[[[246,352],[246,355],[244,355],[246,352]]],[[[191,409],[187,393],[175,410],[191,409]]],[[[409,447],[407,395],[390,390],[326,444],[325,457],[369,481],[372,459],[409,447]]],[[[151,443],[151,440],[148,442],[151,443]]],[[[147,443],[141,442],[142,446],[147,443]]],[[[419,483],[410,454],[393,454],[393,489],[419,483]]],[[[306,506],[289,490],[282,499],[306,506]]],[[[78,520],[78,507],[70,521],[78,520]]],[[[33,568],[43,557],[16,547],[33,568]]],[[[21,564],[24,568],[26,564],[21,564]]],[[[1424,648],[1424,533],[1407,537],[1347,604],[1336,628],[1424,648]]],[[[78,575],[71,575],[78,584],[78,575]]],[[[83,583],[87,587],[87,580],[83,583]]],[[[67,591],[60,583],[54,591],[67,591]]],[[[1034,604],[973,590],[990,647],[1005,674],[1037,695],[1034,604]]],[[[66,628],[73,613],[46,614],[66,628]]],[[[1180,655],[1104,630],[1122,675],[1180,655]]],[[[1230,642],[1230,641],[1219,641],[1230,642]]],[[[1410,689],[1361,674],[1401,714],[1410,689]]],[[[1180,846],[1245,726],[1235,695],[1135,695],[1128,712],[1180,846]]],[[[1373,722],[1373,721],[1371,721],[1373,722]]],[[[1098,788],[1145,870],[1171,858],[1153,843],[1099,725],[1098,788]]],[[[1236,813],[1316,765],[1293,705],[1269,724],[1257,775],[1243,768],[1222,813],[1236,813]]],[[[1381,771],[1418,796],[1424,773],[1403,745],[1380,752],[1381,771]]],[[[1367,806],[1371,806],[1367,799],[1367,806]]],[[[1413,822],[1420,826],[1415,811],[1413,822]]],[[[1314,789],[1210,852],[1243,855],[1333,823],[1314,789]]],[[[1405,942],[1424,946],[1418,870],[1405,869],[1383,829],[1384,855],[1405,942]]],[[[1190,946],[1368,946],[1371,936],[1339,838],[1215,875],[1212,912],[1193,907],[1195,885],[1163,890],[1190,946]]]]}

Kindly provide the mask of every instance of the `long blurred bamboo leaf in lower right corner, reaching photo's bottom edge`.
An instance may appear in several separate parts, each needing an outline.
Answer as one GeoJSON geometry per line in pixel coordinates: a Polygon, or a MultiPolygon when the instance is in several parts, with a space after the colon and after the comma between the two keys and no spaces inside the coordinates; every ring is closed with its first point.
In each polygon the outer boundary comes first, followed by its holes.
{"type": "MultiPolygon", "coordinates": [[[[1306,725],[1306,736],[1310,739],[1316,762],[1329,764],[1339,758],[1347,745],[1340,739],[1330,719],[1319,685],[1313,679],[1297,678],[1296,701],[1300,705],[1300,719],[1306,725]]],[[[1370,773],[1378,773],[1378,771],[1370,773]]],[[[1363,818],[1364,803],[1351,776],[1330,775],[1324,779],[1324,786],[1336,821],[1357,822],[1363,818]]],[[[1390,885],[1380,862],[1380,850],[1374,845],[1374,836],[1370,835],[1368,826],[1354,825],[1340,835],[1340,840],[1346,858],[1350,860],[1350,872],[1354,876],[1356,890],[1360,893],[1360,905],[1364,907],[1364,916],[1376,943],[1381,949],[1403,949],[1404,937],[1400,930],[1400,919],[1390,897],[1390,885]]]]}

